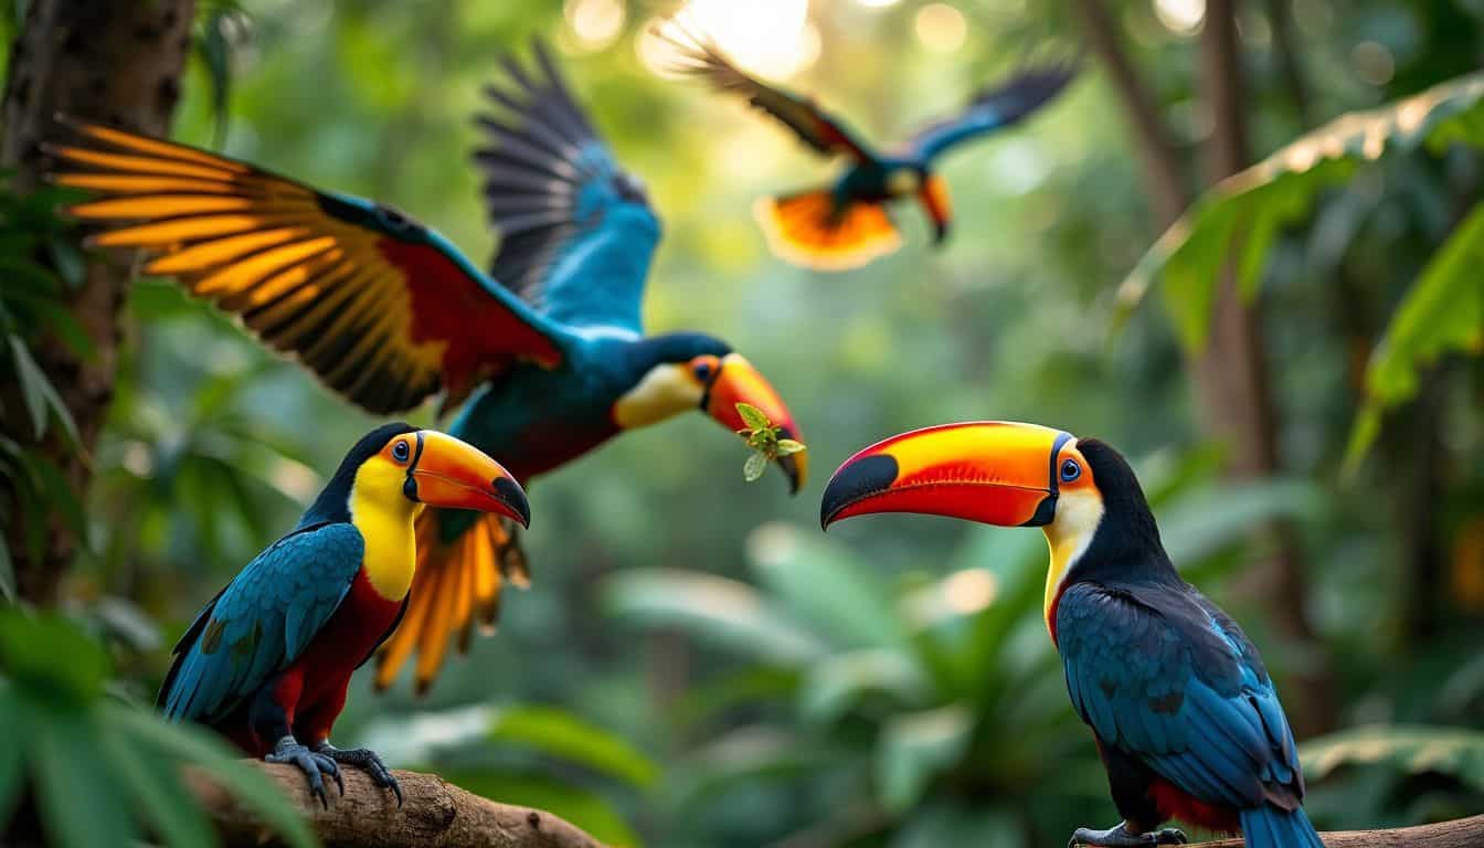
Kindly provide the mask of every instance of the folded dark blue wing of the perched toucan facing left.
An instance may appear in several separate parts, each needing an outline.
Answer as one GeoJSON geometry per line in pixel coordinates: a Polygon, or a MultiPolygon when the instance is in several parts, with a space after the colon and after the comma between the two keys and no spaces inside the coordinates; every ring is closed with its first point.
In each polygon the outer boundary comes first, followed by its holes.
{"type": "Polygon", "coordinates": [[[1190,796],[1296,808],[1303,772],[1257,650],[1204,599],[1153,591],[1153,606],[1088,584],[1063,594],[1057,634],[1073,705],[1103,744],[1190,796]]]}

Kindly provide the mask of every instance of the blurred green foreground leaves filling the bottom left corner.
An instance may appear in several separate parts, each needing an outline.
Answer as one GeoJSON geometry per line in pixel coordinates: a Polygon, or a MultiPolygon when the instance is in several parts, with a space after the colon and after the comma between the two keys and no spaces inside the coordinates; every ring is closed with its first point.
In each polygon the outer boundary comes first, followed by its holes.
{"type": "Polygon", "coordinates": [[[217,845],[187,789],[190,766],[289,845],[315,844],[276,786],[214,734],[105,699],[108,665],[74,624],[0,610],[0,720],[12,740],[0,746],[0,818],[30,793],[56,845],[111,847],[145,833],[171,848],[217,845]]]}

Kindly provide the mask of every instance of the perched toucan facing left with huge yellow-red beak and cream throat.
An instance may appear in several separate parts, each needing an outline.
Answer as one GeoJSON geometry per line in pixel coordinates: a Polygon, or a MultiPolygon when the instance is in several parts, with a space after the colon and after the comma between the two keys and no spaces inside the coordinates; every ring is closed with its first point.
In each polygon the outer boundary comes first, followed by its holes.
{"type": "Polygon", "coordinates": [[[1169,818],[1248,848],[1324,848],[1293,732],[1257,649],[1180,579],[1128,462],[1043,426],[976,422],[880,441],[835,471],[821,521],[867,512],[1042,527],[1045,616],[1123,821],[1073,844],[1184,842],[1169,818]]]}

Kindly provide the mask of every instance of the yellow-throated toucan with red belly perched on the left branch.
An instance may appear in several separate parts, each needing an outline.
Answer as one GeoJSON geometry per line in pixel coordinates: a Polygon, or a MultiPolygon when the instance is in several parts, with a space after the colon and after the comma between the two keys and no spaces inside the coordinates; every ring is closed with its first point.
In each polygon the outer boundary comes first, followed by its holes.
{"type": "Polygon", "coordinates": [[[352,671],[407,610],[423,505],[530,523],[519,483],[478,449],[405,423],[380,426],[350,449],[298,526],[196,615],[175,645],[159,707],[252,756],[298,766],[321,803],[321,772],[344,792],[337,763],[364,768],[401,803],[381,759],[334,747],[329,731],[352,671]]]}

